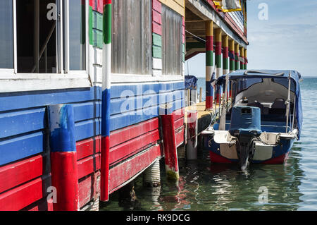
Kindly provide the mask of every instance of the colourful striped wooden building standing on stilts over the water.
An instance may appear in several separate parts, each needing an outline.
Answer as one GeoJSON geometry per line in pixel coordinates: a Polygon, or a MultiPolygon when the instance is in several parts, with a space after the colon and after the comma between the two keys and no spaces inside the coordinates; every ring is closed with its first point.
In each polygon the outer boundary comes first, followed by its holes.
{"type": "Polygon", "coordinates": [[[211,107],[213,68],[247,68],[241,3],[1,0],[0,210],[98,209],[161,158],[178,179],[185,60],[206,52],[211,107]]]}

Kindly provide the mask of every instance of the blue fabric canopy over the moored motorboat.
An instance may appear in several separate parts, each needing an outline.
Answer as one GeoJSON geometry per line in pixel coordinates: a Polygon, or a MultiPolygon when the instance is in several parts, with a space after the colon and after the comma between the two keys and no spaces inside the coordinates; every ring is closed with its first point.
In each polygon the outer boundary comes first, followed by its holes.
{"type": "MultiPolygon", "coordinates": [[[[216,85],[225,85],[225,76],[222,75],[216,80],[216,85]]],[[[237,70],[229,73],[229,80],[243,79],[240,82],[244,83],[244,87],[249,87],[252,83],[258,83],[257,78],[278,78],[278,83],[284,85],[288,89],[288,78],[293,81],[291,83],[291,91],[296,95],[296,119],[297,128],[299,130],[298,137],[300,138],[302,123],[303,123],[303,112],[302,112],[302,97],[300,91],[299,80],[301,74],[297,71],[280,71],[280,70],[237,70]],[[248,79],[250,78],[250,79],[248,79]],[[285,79],[285,81],[284,81],[285,79]],[[251,82],[251,83],[250,83],[251,82]]]]}

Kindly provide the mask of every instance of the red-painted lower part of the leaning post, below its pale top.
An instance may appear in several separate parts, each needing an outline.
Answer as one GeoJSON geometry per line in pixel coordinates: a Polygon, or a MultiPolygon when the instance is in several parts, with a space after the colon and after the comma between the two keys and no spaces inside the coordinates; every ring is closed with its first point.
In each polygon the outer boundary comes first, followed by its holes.
{"type": "Polygon", "coordinates": [[[165,164],[169,169],[177,172],[178,171],[178,155],[176,150],[175,140],[175,127],[174,127],[174,116],[162,115],[162,133],[163,133],[163,145],[165,164]]]}

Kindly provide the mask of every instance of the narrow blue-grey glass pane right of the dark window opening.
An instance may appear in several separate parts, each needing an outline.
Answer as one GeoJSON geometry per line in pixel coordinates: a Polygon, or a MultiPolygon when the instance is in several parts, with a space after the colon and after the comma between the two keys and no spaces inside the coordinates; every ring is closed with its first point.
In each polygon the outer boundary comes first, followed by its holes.
{"type": "Polygon", "coordinates": [[[86,70],[85,1],[69,1],[69,69],[86,70]]]}

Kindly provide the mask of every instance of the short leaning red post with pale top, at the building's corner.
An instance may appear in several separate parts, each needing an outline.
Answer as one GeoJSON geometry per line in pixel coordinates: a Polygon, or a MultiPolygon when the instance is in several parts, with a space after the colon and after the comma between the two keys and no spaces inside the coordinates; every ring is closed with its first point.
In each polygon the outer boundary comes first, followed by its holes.
{"type": "Polygon", "coordinates": [[[173,104],[162,104],[159,110],[163,134],[166,175],[168,179],[178,180],[180,175],[178,171],[178,154],[175,139],[173,104]]]}

